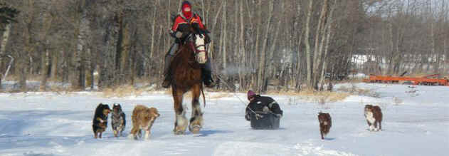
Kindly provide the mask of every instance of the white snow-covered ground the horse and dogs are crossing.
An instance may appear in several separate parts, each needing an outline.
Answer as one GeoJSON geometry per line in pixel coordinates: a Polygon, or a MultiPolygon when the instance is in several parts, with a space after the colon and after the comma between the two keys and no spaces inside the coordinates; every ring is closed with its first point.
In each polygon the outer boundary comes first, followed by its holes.
{"type": "MultiPolygon", "coordinates": [[[[380,98],[349,96],[319,105],[297,96],[273,96],[284,117],[280,130],[252,130],[238,98],[206,95],[204,129],[199,134],[174,135],[171,96],[144,93],[137,97],[102,98],[100,93],[0,94],[0,155],[447,155],[449,147],[449,87],[356,84],[374,89],[380,98]],[[150,140],[113,137],[109,127],[93,139],[93,110],[98,103],[122,103],[131,130],[134,105],[157,108],[161,116],[150,140]],[[380,105],[381,132],[370,132],[365,104],[380,105]],[[330,113],[332,128],[319,136],[317,113],[330,113]]],[[[337,85],[338,88],[341,85],[337,85]]],[[[245,100],[245,94],[238,97],[245,100]]],[[[202,101],[202,100],[201,100],[202,101]]],[[[184,104],[190,107],[190,100],[184,104]]],[[[190,113],[187,113],[189,118],[190,113]]]]}

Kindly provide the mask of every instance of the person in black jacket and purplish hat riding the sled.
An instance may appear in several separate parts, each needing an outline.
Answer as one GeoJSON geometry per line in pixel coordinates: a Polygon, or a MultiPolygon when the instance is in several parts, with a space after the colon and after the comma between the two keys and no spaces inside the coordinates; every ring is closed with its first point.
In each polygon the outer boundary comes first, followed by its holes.
{"type": "Polygon", "coordinates": [[[246,106],[245,119],[250,121],[255,113],[273,113],[278,118],[282,118],[282,110],[279,104],[268,96],[256,95],[253,90],[248,90],[248,100],[250,103],[246,106]]]}

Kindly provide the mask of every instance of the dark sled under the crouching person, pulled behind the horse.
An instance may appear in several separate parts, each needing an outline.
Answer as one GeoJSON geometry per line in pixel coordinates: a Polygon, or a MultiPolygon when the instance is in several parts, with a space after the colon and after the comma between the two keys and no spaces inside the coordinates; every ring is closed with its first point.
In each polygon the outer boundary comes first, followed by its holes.
{"type": "Polygon", "coordinates": [[[280,118],[273,113],[256,111],[251,114],[251,128],[255,130],[275,130],[279,128],[279,120],[280,118]]]}

